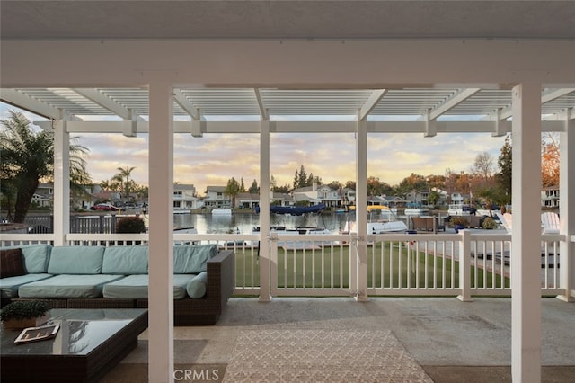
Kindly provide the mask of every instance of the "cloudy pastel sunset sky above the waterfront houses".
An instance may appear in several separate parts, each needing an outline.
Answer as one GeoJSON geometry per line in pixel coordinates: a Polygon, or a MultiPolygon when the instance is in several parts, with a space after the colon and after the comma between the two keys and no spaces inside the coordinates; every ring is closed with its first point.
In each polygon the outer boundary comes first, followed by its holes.
{"type": "MultiPolygon", "coordinates": [[[[0,104],[2,120],[12,106],[0,104]]],[[[42,120],[27,114],[31,120],[42,120]]],[[[90,149],[88,171],[94,182],[109,180],[118,167],[134,166],[133,179],[148,183],[148,136],[127,138],[120,134],[87,134],[79,144],[90,149]]],[[[281,186],[292,184],[296,170],[304,165],[307,174],[323,183],[355,180],[355,139],[341,134],[272,134],[270,172],[281,186]]],[[[445,174],[469,171],[475,157],[488,152],[500,155],[504,138],[491,134],[446,134],[424,138],[422,134],[370,134],[367,141],[367,175],[395,185],[414,174],[445,174]]],[[[193,183],[200,195],[208,185],[226,185],[228,179],[243,178],[246,188],[260,183],[260,140],[258,135],[190,134],[174,137],[174,181],[193,183]]]]}

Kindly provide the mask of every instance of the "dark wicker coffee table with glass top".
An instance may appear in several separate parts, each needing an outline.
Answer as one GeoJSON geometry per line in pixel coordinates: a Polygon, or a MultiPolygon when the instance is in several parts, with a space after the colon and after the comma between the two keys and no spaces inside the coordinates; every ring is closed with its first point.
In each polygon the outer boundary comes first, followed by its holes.
{"type": "Polygon", "coordinates": [[[56,337],[14,344],[19,330],[2,328],[3,383],[22,381],[96,382],[137,346],[147,328],[140,308],[52,309],[56,337]]]}

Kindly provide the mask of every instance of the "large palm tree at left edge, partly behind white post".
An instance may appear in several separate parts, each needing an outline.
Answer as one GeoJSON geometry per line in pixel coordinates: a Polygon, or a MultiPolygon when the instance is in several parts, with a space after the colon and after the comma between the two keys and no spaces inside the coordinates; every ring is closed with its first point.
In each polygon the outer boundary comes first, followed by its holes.
{"type": "MultiPolygon", "coordinates": [[[[31,121],[19,111],[8,111],[10,118],[2,120],[0,131],[0,179],[6,200],[14,202],[13,222],[22,223],[40,180],[50,181],[54,174],[54,136],[51,132],[31,129],[31,121]]],[[[77,138],[70,138],[74,141],[77,138]]],[[[70,187],[84,191],[91,183],[83,156],[88,149],[70,145],[70,187]]],[[[84,191],[85,192],[85,191],[84,191]]],[[[12,218],[12,205],[8,218],[12,218]]]]}

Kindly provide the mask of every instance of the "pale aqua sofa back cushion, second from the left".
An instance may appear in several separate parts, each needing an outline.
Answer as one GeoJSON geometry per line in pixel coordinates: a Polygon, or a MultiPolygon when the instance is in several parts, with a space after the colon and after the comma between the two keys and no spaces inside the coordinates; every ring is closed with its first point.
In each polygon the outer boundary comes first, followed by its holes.
{"type": "Polygon", "coordinates": [[[55,246],[50,254],[49,274],[99,274],[103,246],[55,246]]]}

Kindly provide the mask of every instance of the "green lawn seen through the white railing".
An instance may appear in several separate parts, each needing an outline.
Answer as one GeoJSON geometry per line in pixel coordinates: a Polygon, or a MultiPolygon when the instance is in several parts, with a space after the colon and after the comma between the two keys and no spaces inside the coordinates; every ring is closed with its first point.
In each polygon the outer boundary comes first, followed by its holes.
{"type": "MultiPolygon", "coordinates": [[[[260,271],[257,253],[236,252],[237,286],[259,286],[260,271]]],[[[483,288],[483,273],[477,271],[478,286],[474,286],[474,267],[472,266],[472,287],[483,288]]],[[[491,287],[495,276],[496,286],[500,286],[501,276],[486,272],[486,285],[491,287]]],[[[509,287],[509,278],[505,278],[509,287]]],[[[323,250],[285,250],[278,249],[278,286],[279,288],[349,288],[349,246],[326,246],[323,250]]],[[[397,243],[390,250],[390,244],[382,243],[368,247],[367,286],[376,288],[457,288],[459,285],[459,263],[450,259],[435,257],[431,254],[408,251],[403,246],[400,251],[397,243]],[[383,253],[383,254],[382,254],[383,253]],[[375,260],[374,260],[375,258],[375,260]],[[408,261],[409,259],[409,261],[408,261]],[[383,260],[383,270],[382,270],[383,260]],[[444,264],[445,263],[445,264],[444,264]],[[426,269],[427,264],[427,269],[426,269]],[[452,268],[453,273],[452,273],[452,268]],[[437,270],[434,278],[433,270],[437,270]],[[392,272],[390,272],[392,270],[392,272]],[[416,272],[419,270],[419,272],[416,272]],[[417,276],[419,275],[419,278],[417,276]],[[427,278],[426,278],[427,276],[427,278]],[[383,284],[382,284],[383,279],[383,284]],[[435,282],[435,285],[434,285],[435,282]]]]}

